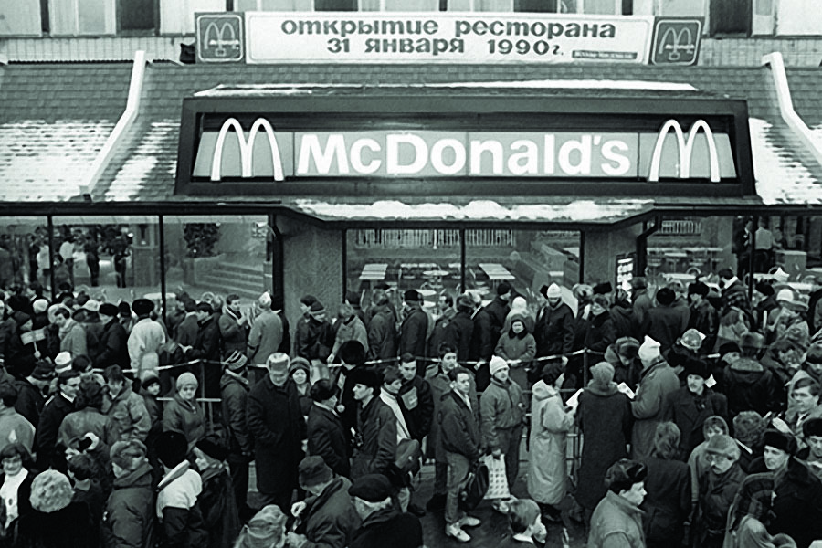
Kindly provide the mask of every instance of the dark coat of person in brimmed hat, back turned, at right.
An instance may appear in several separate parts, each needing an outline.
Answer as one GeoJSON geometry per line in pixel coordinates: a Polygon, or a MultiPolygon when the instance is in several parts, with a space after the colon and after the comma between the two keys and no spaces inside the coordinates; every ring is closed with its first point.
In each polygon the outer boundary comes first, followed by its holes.
{"type": "Polygon", "coordinates": [[[753,358],[736,360],[725,368],[722,376],[731,416],[752,409],[765,416],[775,408],[774,374],[753,358]]]}

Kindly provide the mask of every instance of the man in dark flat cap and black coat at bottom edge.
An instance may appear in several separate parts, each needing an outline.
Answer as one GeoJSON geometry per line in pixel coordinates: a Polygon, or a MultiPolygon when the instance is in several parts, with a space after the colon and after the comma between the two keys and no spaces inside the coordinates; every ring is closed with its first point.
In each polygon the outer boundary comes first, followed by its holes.
{"type": "Polygon", "coordinates": [[[419,518],[395,510],[391,483],[380,474],[368,474],[353,482],[348,493],[363,522],[354,532],[350,548],[421,548],[422,524],[419,518]]]}

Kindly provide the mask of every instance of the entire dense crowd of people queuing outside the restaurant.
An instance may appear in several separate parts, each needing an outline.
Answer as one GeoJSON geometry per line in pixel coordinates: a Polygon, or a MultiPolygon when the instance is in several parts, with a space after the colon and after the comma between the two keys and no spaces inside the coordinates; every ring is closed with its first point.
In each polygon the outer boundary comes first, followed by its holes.
{"type": "Polygon", "coordinates": [[[382,285],[333,321],[305,295],[293,329],[269,293],[248,311],[181,292],[162,314],[8,290],[0,545],[419,548],[427,512],[468,543],[479,463],[511,490],[524,458],[522,496],[492,501],[501,545],[550,544],[544,524],[573,519],[592,547],[806,548],[822,342],[789,284],[752,301],[730,269],[718,280],[552,283],[536,302],[503,281],[485,304],[443,291],[434,313],[382,285]]]}

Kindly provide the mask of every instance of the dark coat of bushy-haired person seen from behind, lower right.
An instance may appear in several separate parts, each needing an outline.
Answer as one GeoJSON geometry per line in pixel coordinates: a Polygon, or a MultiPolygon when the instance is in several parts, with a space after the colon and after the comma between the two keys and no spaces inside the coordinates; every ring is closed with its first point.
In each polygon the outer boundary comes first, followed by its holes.
{"type": "Polygon", "coordinates": [[[681,460],[651,457],[645,461],[647,495],[641,508],[643,526],[650,544],[668,545],[685,536],[685,520],[690,515],[690,468],[681,460]]]}

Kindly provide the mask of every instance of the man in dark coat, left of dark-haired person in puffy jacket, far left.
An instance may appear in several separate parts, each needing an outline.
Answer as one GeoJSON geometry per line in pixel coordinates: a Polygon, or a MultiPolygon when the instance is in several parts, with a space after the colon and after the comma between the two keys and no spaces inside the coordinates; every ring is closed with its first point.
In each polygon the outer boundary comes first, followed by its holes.
{"type": "Polygon", "coordinates": [[[35,468],[47,470],[54,467],[58,470],[66,469],[65,457],[58,451],[58,430],[63,419],[74,411],[74,398],[79,391],[79,373],[67,370],[58,374],[58,392],[55,394],[40,414],[37,423],[35,448],[37,463],[35,468]]]}

